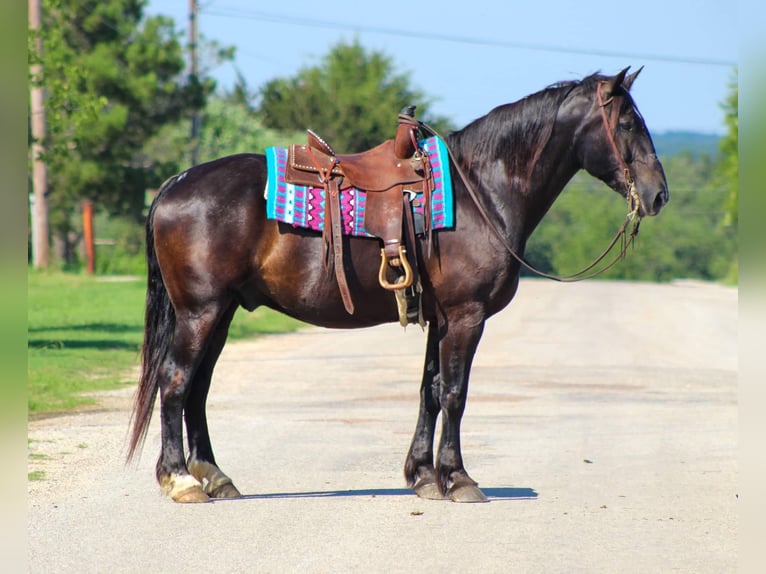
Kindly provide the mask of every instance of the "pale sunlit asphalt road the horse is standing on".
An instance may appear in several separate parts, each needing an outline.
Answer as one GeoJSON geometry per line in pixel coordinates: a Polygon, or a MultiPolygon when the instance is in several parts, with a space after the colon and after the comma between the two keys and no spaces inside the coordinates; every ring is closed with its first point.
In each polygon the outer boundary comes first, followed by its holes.
{"type": "Polygon", "coordinates": [[[522,281],[463,419],[488,504],[404,488],[425,335],[387,325],[230,344],[209,400],[244,497],[164,498],[123,463],[132,387],[32,421],[30,572],[733,572],[737,291],[522,281]]]}

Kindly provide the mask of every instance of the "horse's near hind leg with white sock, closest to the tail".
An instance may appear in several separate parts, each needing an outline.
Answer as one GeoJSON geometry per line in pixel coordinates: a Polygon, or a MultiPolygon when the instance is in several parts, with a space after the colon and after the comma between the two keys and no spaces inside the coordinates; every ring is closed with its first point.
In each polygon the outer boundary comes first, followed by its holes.
{"type": "Polygon", "coordinates": [[[189,474],[184,460],[183,410],[200,364],[222,312],[218,305],[176,311],[173,342],[160,375],[162,450],[157,460],[157,481],[176,502],[207,502],[201,483],[189,474]]]}

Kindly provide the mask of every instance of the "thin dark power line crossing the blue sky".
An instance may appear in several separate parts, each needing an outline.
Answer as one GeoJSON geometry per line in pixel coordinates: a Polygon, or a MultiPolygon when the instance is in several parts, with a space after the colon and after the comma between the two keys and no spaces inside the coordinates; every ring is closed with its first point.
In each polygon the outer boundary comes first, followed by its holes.
{"type": "Polygon", "coordinates": [[[440,34],[437,32],[424,32],[401,30],[397,28],[388,28],[383,26],[360,26],[348,22],[339,22],[335,20],[319,20],[316,18],[301,18],[299,16],[274,14],[271,12],[261,12],[257,10],[242,10],[239,8],[227,8],[225,6],[206,9],[205,13],[210,16],[221,18],[237,18],[246,20],[261,20],[263,22],[273,22],[277,24],[288,24],[292,26],[304,26],[309,28],[325,28],[329,30],[355,30],[370,34],[382,34],[386,36],[418,38],[420,40],[435,40],[440,42],[451,42],[456,44],[471,44],[476,46],[490,46],[495,48],[511,48],[517,50],[535,50],[539,52],[556,52],[563,54],[579,54],[586,56],[604,56],[610,58],[623,59],[641,59],[653,60],[659,62],[673,62],[678,64],[695,64],[701,66],[722,66],[731,68],[736,66],[736,62],[729,60],[719,60],[714,58],[693,58],[687,56],[667,56],[662,54],[642,54],[638,52],[617,52],[612,50],[597,50],[592,48],[572,48],[568,46],[557,46],[553,44],[535,44],[529,42],[513,42],[508,40],[495,40],[492,38],[477,38],[471,36],[459,36],[454,34],[440,34]]]}

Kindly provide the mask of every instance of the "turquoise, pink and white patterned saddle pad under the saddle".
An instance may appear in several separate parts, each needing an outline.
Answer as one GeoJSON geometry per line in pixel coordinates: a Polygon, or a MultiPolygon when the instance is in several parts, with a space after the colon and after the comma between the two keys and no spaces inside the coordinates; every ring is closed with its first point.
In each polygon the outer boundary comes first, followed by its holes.
{"type": "MultiPolygon", "coordinates": [[[[421,147],[428,154],[434,176],[434,192],[431,196],[431,226],[433,229],[449,229],[455,224],[452,197],[452,180],[449,170],[449,154],[445,143],[437,137],[421,140],[421,147]]],[[[287,149],[266,149],[269,177],[266,184],[266,216],[316,231],[324,229],[325,193],[322,187],[293,185],[285,181],[287,149]]],[[[374,193],[374,192],[371,192],[374,193]]],[[[422,195],[422,194],[419,194],[422,195]]],[[[416,202],[416,213],[424,213],[423,201],[416,202]]],[[[340,190],[340,208],[344,235],[373,237],[364,228],[367,192],[355,187],[340,190]]]]}

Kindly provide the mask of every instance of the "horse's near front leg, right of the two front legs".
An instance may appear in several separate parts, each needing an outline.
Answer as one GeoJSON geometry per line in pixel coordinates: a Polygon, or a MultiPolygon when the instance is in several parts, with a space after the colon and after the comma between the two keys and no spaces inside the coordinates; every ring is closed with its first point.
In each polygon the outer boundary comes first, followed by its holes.
{"type": "Polygon", "coordinates": [[[441,327],[439,404],[442,433],[436,461],[440,492],[455,502],[486,502],[487,497],[466,472],[460,450],[460,421],[468,397],[468,377],[484,330],[484,315],[462,309],[441,327]]]}

